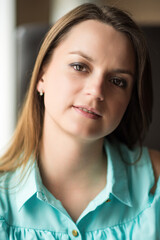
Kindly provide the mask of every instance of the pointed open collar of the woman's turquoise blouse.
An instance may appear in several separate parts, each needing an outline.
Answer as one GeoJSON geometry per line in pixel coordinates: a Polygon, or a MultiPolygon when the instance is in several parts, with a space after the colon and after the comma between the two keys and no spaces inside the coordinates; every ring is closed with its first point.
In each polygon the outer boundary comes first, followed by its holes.
{"type": "MultiPolygon", "coordinates": [[[[104,148],[107,154],[107,179],[106,186],[98,196],[89,204],[90,211],[104,203],[110,195],[113,195],[123,204],[132,207],[130,197],[128,178],[125,163],[121,158],[121,154],[115,144],[111,144],[108,140],[104,142],[104,148]]],[[[30,161],[29,161],[30,162],[30,161]]],[[[19,169],[17,172],[19,173],[19,169]]],[[[30,173],[25,176],[23,181],[17,187],[16,202],[18,210],[33,196],[37,194],[38,198],[46,201],[51,199],[46,188],[42,183],[37,161],[31,167],[30,173]],[[40,197],[39,197],[40,196],[40,197]]],[[[54,197],[52,203],[58,203],[54,197]]],[[[86,209],[87,210],[87,209],[86,209]]]]}

